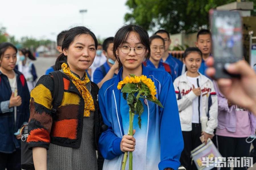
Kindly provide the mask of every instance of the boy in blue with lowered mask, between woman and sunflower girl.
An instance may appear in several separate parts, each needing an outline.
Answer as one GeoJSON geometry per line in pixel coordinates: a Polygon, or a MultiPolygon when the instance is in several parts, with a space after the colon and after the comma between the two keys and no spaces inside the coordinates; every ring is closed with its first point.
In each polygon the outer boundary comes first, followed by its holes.
{"type": "Polygon", "coordinates": [[[93,74],[93,82],[96,83],[99,88],[105,81],[116,76],[118,73],[118,63],[115,62],[115,56],[113,53],[113,41],[114,37],[108,37],[104,40],[102,47],[103,54],[106,56],[107,61],[100,67],[96,68],[93,74]]]}

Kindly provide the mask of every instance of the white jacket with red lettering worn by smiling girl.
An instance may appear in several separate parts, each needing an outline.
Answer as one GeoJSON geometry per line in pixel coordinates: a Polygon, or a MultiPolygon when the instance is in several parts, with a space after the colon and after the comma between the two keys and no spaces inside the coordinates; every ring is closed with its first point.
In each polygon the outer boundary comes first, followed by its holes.
{"type": "MultiPolygon", "coordinates": [[[[201,109],[200,120],[206,120],[206,133],[213,134],[218,125],[218,101],[212,80],[200,74],[199,87],[201,88],[201,109]]],[[[174,80],[174,89],[176,93],[179,118],[182,131],[192,130],[193,99],[197,96],[193,92],[193,87],[187,79],[187,72],[174,80]]]]}

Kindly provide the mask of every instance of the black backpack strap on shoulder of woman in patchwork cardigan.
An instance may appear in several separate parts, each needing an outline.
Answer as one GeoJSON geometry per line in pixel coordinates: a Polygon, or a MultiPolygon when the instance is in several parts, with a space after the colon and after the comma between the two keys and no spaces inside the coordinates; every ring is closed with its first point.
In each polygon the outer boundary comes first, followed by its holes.
{"type": "Polygon", "coordinates": [[[61,105],[64,93],[64,82],[63,76],[60,71],[53,71],[50,73],[53,76],[54,80],[54,91],[53,91],[53,101],[52,101],[52,108],[51,113],[55,114],[57,108],[61,105]]]}

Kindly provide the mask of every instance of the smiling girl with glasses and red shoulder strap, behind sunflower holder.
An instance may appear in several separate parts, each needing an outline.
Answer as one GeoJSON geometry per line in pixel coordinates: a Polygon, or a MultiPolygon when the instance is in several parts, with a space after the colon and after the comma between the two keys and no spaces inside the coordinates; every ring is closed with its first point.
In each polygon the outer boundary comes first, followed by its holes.
{"type": "MultiPolygon", "coordinates": [[[[150,68],[161,69],[167,71],[174,77],[174,70],[170,65],[161,61],[164,55],[164,39],[159,35],[149,37],[150,43],[150,58],[148,61],[143,62],[143,65],[150,68]]],[[[174,81],[174,79],[172,79],[174,81]]]]}

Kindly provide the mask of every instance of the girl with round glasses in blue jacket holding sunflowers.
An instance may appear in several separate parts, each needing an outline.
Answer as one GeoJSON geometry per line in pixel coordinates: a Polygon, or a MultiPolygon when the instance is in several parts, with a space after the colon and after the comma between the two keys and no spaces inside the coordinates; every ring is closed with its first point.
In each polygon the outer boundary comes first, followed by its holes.
{"type": "MultiPolygon", "coordinates": [[[[99,91],[99,106],[108,129],[100,135],[99,149],[105,158],[103,169],[120,169],[125,151],[133,152],[133,169],[178,169],[183,150],[179,111],[172,83],[166,71],[145,67],[150,56],[148,33],[137,25],[121,27],[114,37],[113,51],[119,63],[116,77],[106,81],[99,91]],[[134,117],[134,135],[126,135],[129,107],[117,89],[119,81],[129,74],[145,75],[156,86],[157,99],[164,108],[141,99],[144,112],[141,129],[134,117]],[[135,147],[136,145],[136,147],[135,147]]],[[[128,167],[128,161],[126,167],[128,167]]]]}

